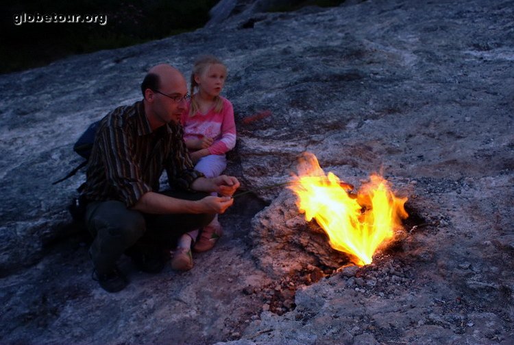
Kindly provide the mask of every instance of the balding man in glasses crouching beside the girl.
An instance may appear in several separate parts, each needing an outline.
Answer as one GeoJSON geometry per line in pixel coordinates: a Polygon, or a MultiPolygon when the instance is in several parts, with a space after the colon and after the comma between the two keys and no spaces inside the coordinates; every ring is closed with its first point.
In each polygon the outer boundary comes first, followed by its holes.
{"type": "Polygon", "coordinates": [[[225,212],[239,187],[232,176],[205,178],[193,170],[180,126],[190,97],[180,71],[151,68],[141,91],[142,101],[101,120],[81,195],[95,237],[89,251],[94,278],[108,292],[128,284],[116,265],[123,253],[140,270],[160,272],[173,241],[225,212]],[[164,169],[171,190],[160,193],[164,169]]]}

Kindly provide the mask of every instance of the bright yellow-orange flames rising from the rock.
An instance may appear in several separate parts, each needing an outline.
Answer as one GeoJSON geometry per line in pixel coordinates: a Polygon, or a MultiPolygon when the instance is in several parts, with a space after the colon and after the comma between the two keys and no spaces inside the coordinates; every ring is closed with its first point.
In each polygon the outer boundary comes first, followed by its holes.
{"type": "Polygon", "coordinates": [[[407,198],[397,198],[381,176],[371,175],[355,195],[332,172],[325,175],[313,154],[304,155],[298,171],[289,189],[298,197],[299,211],[307,221],[316,219],[330,246],[352,254],[357,265],[371,263],[376,250],[393,239],[395,230],[402,230],[407,198]]]}

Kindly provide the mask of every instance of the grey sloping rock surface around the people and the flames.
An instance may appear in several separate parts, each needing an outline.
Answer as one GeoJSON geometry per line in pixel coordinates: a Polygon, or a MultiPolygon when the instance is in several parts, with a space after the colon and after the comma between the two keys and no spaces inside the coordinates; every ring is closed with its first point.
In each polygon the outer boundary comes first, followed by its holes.
{"type": "Polygon", "coordinates": [[[512,0],[247,14],[1,75],[0,342],[512,344],[513,17],[512,0]],[[261,189],[221,217],[227,235],[190,272],[149,276],[125,259],[132,283],[103,292],[65,209],[84,174],[51,181],[80,162],[88,123],[140,99],[149,67],[188,75],[205,52],[230,69],[228,171],[242,191],[287,180],[313,152],[352,185],[382,171],[409,197],[408,235],[338,269],[347,257],[291,192],[261,189]],[[291,230],[292,245],[277,236],[291,230]]]}

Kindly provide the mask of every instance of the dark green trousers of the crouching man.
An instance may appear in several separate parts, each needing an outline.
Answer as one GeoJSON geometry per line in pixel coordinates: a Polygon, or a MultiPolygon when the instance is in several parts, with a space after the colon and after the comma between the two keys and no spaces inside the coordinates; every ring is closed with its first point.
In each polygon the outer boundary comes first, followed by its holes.
{"type": "MultiPolygon", "coordinates": [[[[208,193],[164,191],[165,195],[184,200],[200,200],[208,193]]],[[[86,225],[93,243],[91,259],[98,274],[111,272],[123,253],[143,252],[160,256],[188,231],[208,225],[215,214],[172,213],[153,215],[127,209],[117,200],[90,202],[86,208],[86,225]]]]}

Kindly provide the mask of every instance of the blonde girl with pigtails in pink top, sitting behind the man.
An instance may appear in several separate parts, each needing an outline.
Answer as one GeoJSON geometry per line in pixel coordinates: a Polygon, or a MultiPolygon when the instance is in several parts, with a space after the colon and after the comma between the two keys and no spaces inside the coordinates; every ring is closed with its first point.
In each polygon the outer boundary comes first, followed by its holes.
{"type": "MultiPolygon", "coordinates": [[[[196,60],[191,73],[193,97],[181,119],[184,141],[195,163],[195,170],[208,178],[221,175],[227,167],[225,153],[236,145],[232,103],[219,95],[226,77],[227,67],[215,56],[203,56],[196,60]]],[[[197,239],[197,235],[198,230],[182,235],[171,259],[173,269],[191,270],[191,243],[197,239]]],[[[221,235],[223,229],[216,215],[208,226],[201,229],[193,250],[210,250],[221,235]]]]}

